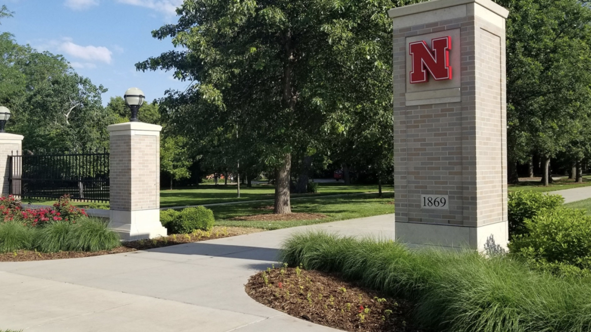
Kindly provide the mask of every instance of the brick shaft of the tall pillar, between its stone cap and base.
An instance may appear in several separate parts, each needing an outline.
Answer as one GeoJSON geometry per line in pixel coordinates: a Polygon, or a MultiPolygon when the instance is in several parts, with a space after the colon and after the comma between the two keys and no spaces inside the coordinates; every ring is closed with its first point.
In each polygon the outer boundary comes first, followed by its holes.
{"type": "Polygon", "coordinates": [[[504,29],[478,16],[394,30],[397,222],[475,227],[506,220],[504,54],[504,29]],[[457,29],[462,101],[407,106],[407,38],[457,29]],[[449,211],[421,210],[421,194],[449,195],[449,211]]]}

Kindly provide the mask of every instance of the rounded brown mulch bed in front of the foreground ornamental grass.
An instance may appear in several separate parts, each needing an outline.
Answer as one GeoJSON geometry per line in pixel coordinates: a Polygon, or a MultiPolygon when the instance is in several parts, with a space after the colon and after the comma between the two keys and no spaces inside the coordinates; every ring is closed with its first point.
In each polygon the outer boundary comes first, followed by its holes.
{"type": "Polygon", "coordinates": [[[417,332],[412,305],[384,297],[337,275],[300,268],[267,269],[252,276],[254,300],[294,317],[350,332],[417,332]]]}

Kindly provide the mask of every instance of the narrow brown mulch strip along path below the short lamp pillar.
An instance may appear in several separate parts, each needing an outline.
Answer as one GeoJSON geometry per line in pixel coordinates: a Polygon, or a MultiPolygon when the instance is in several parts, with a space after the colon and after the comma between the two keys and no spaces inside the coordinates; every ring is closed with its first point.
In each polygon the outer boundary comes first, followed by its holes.
{"type": "Polygon", "coordinates": [[[33,250],[18,250],[17,252],[0,253],[0,262],[48,261],[51,259],[82,258],[111,255],[113,253],[124,253],[137,250],[163,248],[167,246],[181,245],[183,243],[215,240],[221,239],[222,237],[245,235],[263,231],[264,229],[258,228],[214,226],[213,229],[209,232],[198,230],[187,235],[175,234],[158,237],[156,239],[122,242],[120,247],[117,247],[113,250],[101,250],[95,252],[62,251],[54,253],[42,253],[33,250]]]}

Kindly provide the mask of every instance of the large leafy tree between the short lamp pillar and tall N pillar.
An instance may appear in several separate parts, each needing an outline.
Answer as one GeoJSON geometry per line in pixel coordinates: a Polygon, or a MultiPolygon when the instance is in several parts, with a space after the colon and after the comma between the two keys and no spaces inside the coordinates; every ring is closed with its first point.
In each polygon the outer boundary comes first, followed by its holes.
{"type": "MultiPolygon", "coordinates": [[[[245,136],[255,138],[256,152],[276,170],[275,213],[290,213],[293,152],[316,148],[310,142],[322,141],[327,135],[323,128],[337,122],[332,106],[343,96],[337,82],[367,78],[361,71],[351,77],[332,38],[356,36],[350,40],[358,42],[354,50],[359,54],[352,60],[365,54],[364,64],[391,63],[391,45],[385,53],[374,47],[391,43],[387,9],[411,2],[186,0],[177,10],[177,24],[152,32],[155,38],[172,37],[181,50],[137,67],[174,70],[178,79],[193,82],[186,92],[171,92],[167,98],[171,109],[191,105],[193,135],[210,133],[203,122],[241,123],[245,136]]],[[[391,79],[382,77],[379,84],[389,84],[391,79]]]]}

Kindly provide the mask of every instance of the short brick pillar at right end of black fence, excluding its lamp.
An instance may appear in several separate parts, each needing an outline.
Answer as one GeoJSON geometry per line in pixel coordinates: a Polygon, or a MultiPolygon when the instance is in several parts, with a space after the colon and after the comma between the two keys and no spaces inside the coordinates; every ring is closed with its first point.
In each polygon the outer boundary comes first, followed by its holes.
{"type": "Polygon", "coordinates": [[[160,223],[162,127],[126,122],[107,129],[111,138],[111,228],[124,240],[166,236],[160,223]]]}

